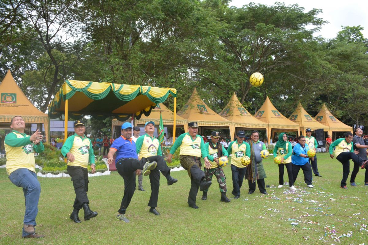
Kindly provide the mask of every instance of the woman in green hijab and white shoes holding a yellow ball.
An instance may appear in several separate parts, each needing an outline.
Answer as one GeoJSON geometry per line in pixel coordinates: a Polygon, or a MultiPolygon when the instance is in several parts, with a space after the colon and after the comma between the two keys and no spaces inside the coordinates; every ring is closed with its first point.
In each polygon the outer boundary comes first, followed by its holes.
{"type": "Polygon", "coordinates": [[[279,186],[278,188],[283,187],[284,185],[284,165],[286,166],[287,175],[289,176],[289,186],[290,190],[296,190],[294,187],[293,180],[293,167],[291,165],[291,154],[293,153],[293,148],[291,147],[291,143],[287,140],[286,133],[279,134],[279,140],[277,140],[275,149],[273,150],[273,156],[280,156],[282,158],[281,163],[279,164],[279,186]]]}

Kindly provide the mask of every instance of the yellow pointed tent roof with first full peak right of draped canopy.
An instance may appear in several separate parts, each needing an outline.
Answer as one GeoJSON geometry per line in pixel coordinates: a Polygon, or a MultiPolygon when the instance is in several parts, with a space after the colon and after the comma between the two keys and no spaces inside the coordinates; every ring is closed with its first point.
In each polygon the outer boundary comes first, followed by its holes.
{"type": "Polygon", "coordinates": [[[192,96],[187,104],[178,112],[178,115],[187,119],[187,122],[197,122],[200,127],[231,127],[231,122],[212,111],[199,97],[197,89],[194,88],[192,96]]]}

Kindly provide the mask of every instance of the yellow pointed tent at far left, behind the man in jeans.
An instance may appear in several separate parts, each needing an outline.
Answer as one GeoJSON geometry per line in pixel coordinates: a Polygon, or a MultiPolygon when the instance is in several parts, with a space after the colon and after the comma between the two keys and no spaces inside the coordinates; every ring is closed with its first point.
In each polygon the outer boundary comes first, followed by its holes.
{"type": "Polygon", "coordinates": [[[15,83],[11,72],[8,71],[0,84],[0,123],[6,123],[10,126],[11,119],[14,116],[22,116],[25,123],[40,124],[45,127],[46,142],[49,142],[49,116],[37,109],[31,101],[25,96],[23,91],[15,83]]]}

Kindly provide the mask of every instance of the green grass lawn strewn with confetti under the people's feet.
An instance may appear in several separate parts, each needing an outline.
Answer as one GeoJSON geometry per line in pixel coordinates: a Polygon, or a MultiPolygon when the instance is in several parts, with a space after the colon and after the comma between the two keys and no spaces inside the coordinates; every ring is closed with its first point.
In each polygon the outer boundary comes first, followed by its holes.
{"type": "MultiPolygon", "coordinates": [[[[241,187],[241,198],[232,199],[230,165],[224,167],[227,176],[227,197],[220,202],[218,184],[209,189],[208,199],[197,196],[199,209],[188,208],[190,180],[186,171],[172,172],[179,181],[167,186],[162,176],[157,210],[149,213],[151,193],[148,177],[144,177],[146,192],[136,191],[127,209],[130,223],[115,220],[123,197],[123,179],[117,172],[110,176],[89,178],[90,207],[97,217],[75,224],[69,219],[75,198],[70,178],[42,178],[41,198],[36,230],[41,239],[21,238],[24,216],[24,196],[13,185],[5,169],[0,169],[1,226],[0,244],[367,244],[368,187],[364,171],[356,178],[357,187],[340,188],[342,165],[326,153],[318,154],[318,169],[322,178],[314,177],[315,188],[308,188],[302,171],[290,192],[288,185],[277,188],[278,167],[272,158],[264,161],[269,195],[248,195],[248,181],[241,187]],[[291,222],[299,223],[292,226],[291,222]]],[[[353,170],[351,162],[350,171],[353,170]]],[[[284,180],[287,181],[285,169],[284,180]]],[[[350,180],[350,176],[348,182],[350,180]]],[[[82,216],[82,215],[81,215],[82,216]]],[[[81,217],[80,216],[80,217],[81,217]]]]}

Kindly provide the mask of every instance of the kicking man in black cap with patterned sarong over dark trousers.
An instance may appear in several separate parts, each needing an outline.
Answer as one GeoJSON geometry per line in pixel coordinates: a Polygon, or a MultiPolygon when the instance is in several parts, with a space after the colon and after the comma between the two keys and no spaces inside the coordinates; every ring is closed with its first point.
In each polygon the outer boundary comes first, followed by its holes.
{"type": "Polygon", "coordinates": [[[197,122],[188,123],[188,133],[181,134],[177,138],[166,159],[167,162],[171,162],[173,154],[180,146],[180,165],[188,171],[191,180],[188,205],[194,209],[198,208],[195,204],[198,188],[204,191],[212,184],[211,181],[206,181],[205,173],[201,170],[201,157],[205,160],[205,167],[210,167],[211,164],[208,161],[203,138],[197,135],[198,128],[197,122]]]}

